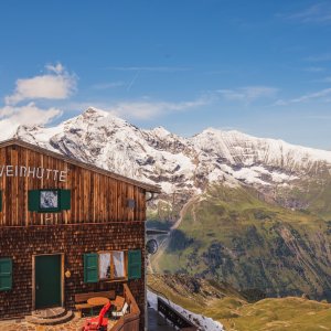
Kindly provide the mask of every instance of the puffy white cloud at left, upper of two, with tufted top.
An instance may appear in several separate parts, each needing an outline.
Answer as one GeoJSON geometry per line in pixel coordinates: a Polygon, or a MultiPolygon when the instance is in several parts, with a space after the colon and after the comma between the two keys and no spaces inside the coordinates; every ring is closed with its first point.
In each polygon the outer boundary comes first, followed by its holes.
{"type": "Polygon", "coordinates": [[[7,105],[31,99],[65,99],[76,88],[76,77],[62,64],[46,65],[47,74],[17,81],[15,90],[4,98],[7,105]]]}

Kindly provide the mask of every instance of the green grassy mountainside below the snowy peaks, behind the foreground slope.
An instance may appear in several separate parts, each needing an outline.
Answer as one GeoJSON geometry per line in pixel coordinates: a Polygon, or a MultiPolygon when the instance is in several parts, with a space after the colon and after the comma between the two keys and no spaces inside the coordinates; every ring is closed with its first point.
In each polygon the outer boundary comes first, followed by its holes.
{"type": "Polygon", "coordinates": [[[331,284],[329,227],[318,216],[267,204],[247,190],[213,186],[188,207],[153,267],[271,296],[322,297],[331,284]]]}

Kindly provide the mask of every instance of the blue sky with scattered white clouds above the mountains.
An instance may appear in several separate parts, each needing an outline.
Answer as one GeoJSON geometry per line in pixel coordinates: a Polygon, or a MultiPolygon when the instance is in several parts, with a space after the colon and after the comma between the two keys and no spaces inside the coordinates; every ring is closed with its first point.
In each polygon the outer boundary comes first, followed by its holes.
{"type": "Polygon", "coordinates": [[[0,130],[89,105],[331,149],[331,1],[0,2],[0,130]]]}

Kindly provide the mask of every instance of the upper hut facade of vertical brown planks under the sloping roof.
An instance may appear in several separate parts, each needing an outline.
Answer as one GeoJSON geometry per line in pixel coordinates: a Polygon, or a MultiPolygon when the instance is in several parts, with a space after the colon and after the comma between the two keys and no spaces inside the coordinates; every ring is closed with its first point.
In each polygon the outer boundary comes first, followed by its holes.
{"type": "Polygon", "coordinates": [[[0,226],[29,226],[145,221],[145,194],[158,188],[13,140],[0,143],[0,226]],[[63,181],[61,171],[65,173],[63,181]],[[50,215],[30,213],[28,190],[38,189],[72,190],[71,210],[50,215]],[[128,207],[128,200],[135,200],[135,209],[128,207]]]}

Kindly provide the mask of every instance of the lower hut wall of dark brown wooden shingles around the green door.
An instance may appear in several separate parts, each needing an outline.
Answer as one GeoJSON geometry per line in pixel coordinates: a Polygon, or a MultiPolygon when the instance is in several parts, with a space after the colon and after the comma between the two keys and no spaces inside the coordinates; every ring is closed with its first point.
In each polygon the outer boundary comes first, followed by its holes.
{"type": "MultiPolygon", "coordinates": [[[[121,282],[84,284],[84,254],[126,249],[141,249],[141,274],[145,275],[145,222],[1,228],[0,252],[2,257],[12,258],[13,284],[10,291],[0,291],[0,319],[23,316],[33,309],[34,255],[64,255],[64,271],[70,270],[72,274],[71,278],[64,278],[64,303],[67,309],[73,309],[75,293],[122,288],[121,282]]],[[[143,276],[128,281],[128,286],[141,311],[140,330],[143,330],[143,276]]]]}

